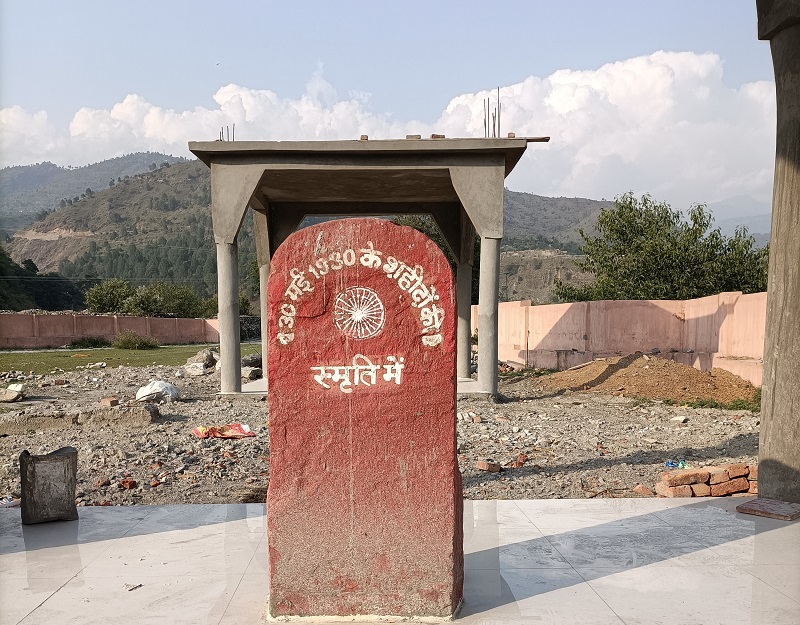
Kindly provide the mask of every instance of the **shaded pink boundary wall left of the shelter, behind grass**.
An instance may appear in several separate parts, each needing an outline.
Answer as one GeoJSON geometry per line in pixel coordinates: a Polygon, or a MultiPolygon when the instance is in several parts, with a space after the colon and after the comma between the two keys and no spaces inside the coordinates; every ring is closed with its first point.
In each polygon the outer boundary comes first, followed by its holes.
{"type": "Polygon", "coordinates": [[[163,344],[218,343],[216,319],[94,315],[0,315],[0,348],[61,347],[83,337],[112,341],[125,330],[152,336],[163,344]]]}

